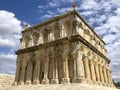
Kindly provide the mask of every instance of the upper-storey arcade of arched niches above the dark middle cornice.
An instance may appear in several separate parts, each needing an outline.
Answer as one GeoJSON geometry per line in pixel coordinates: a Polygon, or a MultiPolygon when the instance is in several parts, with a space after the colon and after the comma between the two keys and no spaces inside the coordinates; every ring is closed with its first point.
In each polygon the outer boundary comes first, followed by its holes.
{"type": "Polygon", "coordinates": [[[23,37],[20,39],[20,49],[56,41],[65,37],[70,38],[74,35],[80,35],[106,56],[107,52],[104,48],[104,44],[92,33],[92,31],[84,27],[85,25],[83,23],[73,22],[69,19],[64,22],[57,21],[29,32],[23,32],[23,37]],[[74,26],[76,29],[73,28],[74,26]]]}

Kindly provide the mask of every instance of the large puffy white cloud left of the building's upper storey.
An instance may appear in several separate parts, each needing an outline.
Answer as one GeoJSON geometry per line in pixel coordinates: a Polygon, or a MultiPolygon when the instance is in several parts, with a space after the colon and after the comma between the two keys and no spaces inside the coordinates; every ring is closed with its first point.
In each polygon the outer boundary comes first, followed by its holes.
{"type": "Polygon", "coordinates": [[[21,21],[14,13],[0,10],[0,46],[16,47],[21,29],[21,21]]]}

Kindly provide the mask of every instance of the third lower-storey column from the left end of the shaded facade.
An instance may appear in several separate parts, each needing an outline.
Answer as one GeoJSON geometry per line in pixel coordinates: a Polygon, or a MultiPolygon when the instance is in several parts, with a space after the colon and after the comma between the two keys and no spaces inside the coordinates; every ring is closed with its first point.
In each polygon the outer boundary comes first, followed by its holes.
{"type": "Polygon", "coordinates": [[[32,70],[33,70],[33,65],[32,62],[30,62],[27,66],[27,72],[26,72],[26,85],[29,85],[32,83],[32,70]]]}

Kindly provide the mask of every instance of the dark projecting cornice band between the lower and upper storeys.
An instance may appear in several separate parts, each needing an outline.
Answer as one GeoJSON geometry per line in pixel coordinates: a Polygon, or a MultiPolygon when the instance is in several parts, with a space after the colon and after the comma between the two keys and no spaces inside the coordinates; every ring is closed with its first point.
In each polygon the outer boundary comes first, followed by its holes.
{"type": "Polygon", "coordinates": [[[82,42],[85,46],[89,47],[92,51],[94,51],[99,56],[104,58],[108,63],[110,63],[110,60],[105,55],[103,55],[99,50],[97,50],[93,45],[91,45],[88,41],[86,41],[80,35],[71,36],[69,39],[68,39],[68,37],[65,37],[65,38],[58,39],[56,41],[46,42],[46,43],[43,43],[43,44],[39,44],[37,46],[32,46],[32,47],[28,47],[28,48],[25,48],[25,49],[20,49],[16,52],[16,54],[19,55],[21,53],[33,52],[33,51],[40,50],[40,49],[43,49],[43,48],[46,49],[46,48],[49,48],[51,46],[63,45],[63,44],[65,44],[65,42],[76,42],[76,41],[77,42],[79,42],[79,41],[82,42]]]}

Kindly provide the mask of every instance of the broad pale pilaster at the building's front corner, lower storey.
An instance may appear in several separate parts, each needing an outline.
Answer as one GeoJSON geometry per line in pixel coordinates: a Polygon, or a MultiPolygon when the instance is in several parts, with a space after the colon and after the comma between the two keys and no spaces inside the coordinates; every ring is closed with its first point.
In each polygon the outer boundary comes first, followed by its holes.
{"type": "Polygon", "coordinates": [[[84,79],[84,66],[83,66],[83,46],[79,43],[74,46],[74,50],[72,52],[73,61],[73,83],[83,83],[84,79]]]}

